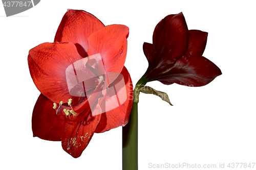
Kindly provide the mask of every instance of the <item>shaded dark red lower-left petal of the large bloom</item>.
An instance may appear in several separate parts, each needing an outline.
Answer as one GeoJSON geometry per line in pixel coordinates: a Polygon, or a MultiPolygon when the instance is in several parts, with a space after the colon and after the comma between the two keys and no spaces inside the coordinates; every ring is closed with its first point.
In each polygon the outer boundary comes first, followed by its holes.
{"type": "Polygon", "coordinates": [[[45,140],[61,140],[63,120],[65,117],[56,115],[53,102],[40,94],[32,115],[32,131],[34,137],[45,140]]]}

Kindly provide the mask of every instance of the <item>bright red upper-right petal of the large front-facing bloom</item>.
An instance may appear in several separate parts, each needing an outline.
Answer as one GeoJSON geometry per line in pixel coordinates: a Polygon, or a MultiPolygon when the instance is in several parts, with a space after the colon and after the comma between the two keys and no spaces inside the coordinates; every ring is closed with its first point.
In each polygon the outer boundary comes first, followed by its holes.
{"type": "Polygon", "coordinates": [[[88,55],[100,54],[105,72],[120,73],[126,58],[128,34],[129,28],[123,25],[110,25],[94,32],[88,38],[88,55]]]}

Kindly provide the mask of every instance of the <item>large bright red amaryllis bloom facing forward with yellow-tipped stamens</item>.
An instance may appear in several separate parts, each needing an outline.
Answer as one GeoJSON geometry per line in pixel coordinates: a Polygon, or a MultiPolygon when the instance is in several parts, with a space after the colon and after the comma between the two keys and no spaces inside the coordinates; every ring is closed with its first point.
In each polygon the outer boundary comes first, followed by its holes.
{"type": "Polygon", "coordinates": [[[127,124],[133,97],[124,67],[128,35],[126,26],[104,26],[88,12],[68,10],[54,42],[29,51],[30,74],[41,92],[34,136],[61,141],[77,158],[94,133],[127,124]]]}

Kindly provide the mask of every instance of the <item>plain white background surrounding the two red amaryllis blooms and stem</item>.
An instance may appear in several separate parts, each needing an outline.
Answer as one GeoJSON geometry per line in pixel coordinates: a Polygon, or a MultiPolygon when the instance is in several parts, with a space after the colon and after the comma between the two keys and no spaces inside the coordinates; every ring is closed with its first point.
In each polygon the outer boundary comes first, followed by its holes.
{"type": "Polygon", "coordinates": [[[140,170],[154,169],[149,163],[219,167],[219,163],[256,162],[254,7],[253,1],[42,0],[28,11],[6,17],[1,5],[1,169],[122,167],[121,127],[94,134],[77,159],[62,150],[61,142],[33,137],[31,116],[40,92],[29,74],[28,52],[53,42],[67,9],[88,11],[104,25],[130,28],[125,66],[134,85],[147,68],[142,44],[152,43],[154,28],[166,15],[183,12],[188,29],[209,33],[204,56],[223,75],[203,87],[147,84],[168,93],[174,106],[155,95],[140,95],[140,170]]]}

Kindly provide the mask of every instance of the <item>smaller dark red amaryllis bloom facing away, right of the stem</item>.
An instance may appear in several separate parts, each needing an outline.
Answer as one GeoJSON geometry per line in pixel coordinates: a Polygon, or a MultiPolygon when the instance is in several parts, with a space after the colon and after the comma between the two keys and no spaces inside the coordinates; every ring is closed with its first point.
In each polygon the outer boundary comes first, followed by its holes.
{"type": "Polygon", "coordinates": [[[202,57],[208,33],[188,30],[182,13],[162,19],[153,33],[153,44],[144,43],[148,61],[146,81],[163,84],[204,86],[220,76],[221,70],[202,57]]]}

